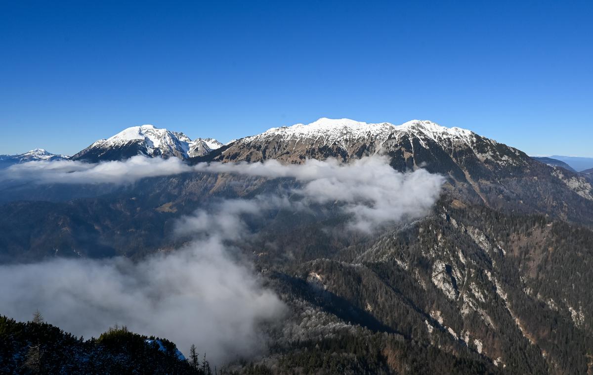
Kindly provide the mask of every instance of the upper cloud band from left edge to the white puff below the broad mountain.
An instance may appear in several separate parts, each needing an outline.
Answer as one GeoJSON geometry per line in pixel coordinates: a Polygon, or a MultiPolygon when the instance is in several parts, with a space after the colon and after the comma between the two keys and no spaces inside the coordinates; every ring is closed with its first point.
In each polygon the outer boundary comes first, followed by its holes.
{"type": "Polygon", "coordinates": [[[72,160],[31,161],[15,164],[0,174],[1,179],[34,183],[130,184],[145,177],[180,173],[229,173],[245,176],[292,178],[302,183],[292,193],[305,203],[340,202],[352,215],[352,227],[371,231],[376,225],[403,218],[419,217],[431,208],[441,192],[444,178],[418,169],[400,173],[386,156],[374,155],[344,164],[335,159],[307,160],[303,164],[200,163],[189,166],[177,158],[135,156],[125,161],[97,164],[72,160]]]}

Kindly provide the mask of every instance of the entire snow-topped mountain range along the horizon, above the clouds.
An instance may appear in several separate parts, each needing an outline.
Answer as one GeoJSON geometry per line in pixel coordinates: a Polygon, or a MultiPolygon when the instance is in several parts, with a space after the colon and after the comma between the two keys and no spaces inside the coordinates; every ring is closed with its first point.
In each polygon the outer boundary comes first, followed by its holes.
{"type": "MultiPolygon", "coordinates": [[[[516,148],[467,129],[447,128],[428,120],[393,125],[321,118],[307,125],[299,123],[272,128],[227,145],[212,138],[192,141],[181,132],[142,125],[95,141],[70,158],[97,162],[145,155],[177,157],[190,163],[267,159],[302,163],[308,158],[323,160],[329,157],[347,162],[377,153],[387,154],[394,169],[412,171],[422,167],[446,176],[447,189],[476,204],[486,203],[515,211],[535,209],[546,214],[554,213],[557,217],[589,220],[584,210],[593,204],[593,174],[575,173],[562,161],[531,158],[516,148]],[[517,198],[519,205],[515,202],[517,198]],[[558,205],[559,199],[585,199],[587,204],[576,204],[575,201],[576,209],[569,209],[558,205]]],[[[35,150],[5,157],[8,161],[5,165],[63,158],[63,155],[35,150]]]]}

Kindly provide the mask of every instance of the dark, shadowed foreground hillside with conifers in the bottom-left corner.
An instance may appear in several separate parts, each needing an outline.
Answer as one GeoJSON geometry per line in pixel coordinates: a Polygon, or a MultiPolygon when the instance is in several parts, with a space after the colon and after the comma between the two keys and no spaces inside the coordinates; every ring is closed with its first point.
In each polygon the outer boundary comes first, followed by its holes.
{"type": "Polygon", "coordinates": [[[5,316],[0,316],[0,373],[199,374],[166,339],[116,328],[84,340],[47,323],[5,316]]]}

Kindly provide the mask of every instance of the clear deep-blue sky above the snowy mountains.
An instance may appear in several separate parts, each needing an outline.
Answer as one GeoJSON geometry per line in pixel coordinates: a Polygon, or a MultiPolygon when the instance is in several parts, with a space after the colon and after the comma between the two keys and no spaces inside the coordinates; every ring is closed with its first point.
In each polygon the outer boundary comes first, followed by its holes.
{"type": "Polygon", "coordinates": [[[349,117],[593,157],[593,1],[2,1],[0,154],[349,117]]]}

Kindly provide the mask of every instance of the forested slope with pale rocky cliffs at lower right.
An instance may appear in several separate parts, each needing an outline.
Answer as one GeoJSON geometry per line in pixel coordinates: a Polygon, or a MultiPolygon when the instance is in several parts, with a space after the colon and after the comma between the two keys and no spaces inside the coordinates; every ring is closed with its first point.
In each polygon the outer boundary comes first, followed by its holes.
{"type": "MultiPolygon", "coordinates": [[[[458,358],[469,351],[510,373],[589,370],[593,299],[582,281],[593,277],[590,230],[451,201],[374,241],[280,267],[275,249],[298,247],[273,244],[254,261],[282,270],[277,288],[293,304],[296,293],[381,335],[398,333],[458,358]]],[[[291,324],[307,321],[323,332],[329,323],[311,314],[291,324]]]]}

